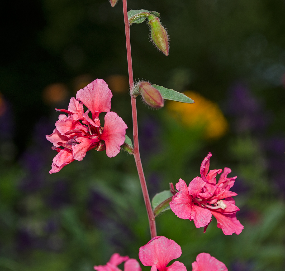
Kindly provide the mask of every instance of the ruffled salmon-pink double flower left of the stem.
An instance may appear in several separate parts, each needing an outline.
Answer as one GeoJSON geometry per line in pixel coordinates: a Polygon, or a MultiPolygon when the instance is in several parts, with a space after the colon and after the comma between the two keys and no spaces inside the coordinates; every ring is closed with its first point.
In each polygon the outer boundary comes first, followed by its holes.
{"type": "Polygon", "coordinates": [[[125,141],[125,122],[115,113],[110,112],[112,92],[103,79],[96,79],[72,97],[66,109],[56,109],[67,113],[61,114],[55,123],[47,140],[54,144],[53,150],[58,154],[52,160],[50,174],[60,171],[74,160],[81,161],[86,152],[91,149],[106,150],[109,157],[120,152],[120,146],[125,141]],[[83,104],[88,108],[84,113],[83,104]],[[91,112],[92,119],[88,113],[91,112]],[[105,115],[104,127],[100,127],[99,114],[105,115]],[[60,148],[63,147],[63,148],[60,148]]]}

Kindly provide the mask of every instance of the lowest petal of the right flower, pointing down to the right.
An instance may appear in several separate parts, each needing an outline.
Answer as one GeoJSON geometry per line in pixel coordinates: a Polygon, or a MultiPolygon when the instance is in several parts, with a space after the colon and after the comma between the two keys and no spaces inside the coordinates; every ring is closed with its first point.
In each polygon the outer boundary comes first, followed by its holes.
{"type": "Polygon", "coordinates": [[[243,230],[243,225],[236,218],[236,213],[227,214],[214,210],[210,210],[213,216],[217,219],[217,227],[223,230],[225,235],[231,235],[233,233],[240,234],[243,230]]]}

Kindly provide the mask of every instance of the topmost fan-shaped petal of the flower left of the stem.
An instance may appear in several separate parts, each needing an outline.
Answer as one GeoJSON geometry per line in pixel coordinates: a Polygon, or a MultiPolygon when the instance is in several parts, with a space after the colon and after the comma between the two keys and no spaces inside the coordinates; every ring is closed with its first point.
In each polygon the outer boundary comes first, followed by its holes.
{"type": "Polygon", "coordinates": [[[92,119],[98,117],[97,112],[110,111],[112,96],[111,90],[103,79],[94,80],[76,93],[76,99],[82,101],[91,111],[92,119]]]}

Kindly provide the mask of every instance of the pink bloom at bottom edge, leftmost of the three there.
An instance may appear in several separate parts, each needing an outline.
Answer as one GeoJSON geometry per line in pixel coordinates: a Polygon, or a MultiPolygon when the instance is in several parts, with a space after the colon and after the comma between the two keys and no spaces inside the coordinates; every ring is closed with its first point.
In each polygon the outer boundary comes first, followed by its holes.
{"type": "Polygon", "coordinates": [[[118,265],[124,264],[124,271],[141,271],[141,266],[136,259],[129,259],[129,256],[120,256],[119,253],[114,253],[106,265],[94,266],[97,271],[121,271],[118,265]]]}

